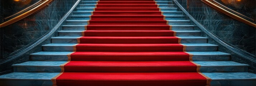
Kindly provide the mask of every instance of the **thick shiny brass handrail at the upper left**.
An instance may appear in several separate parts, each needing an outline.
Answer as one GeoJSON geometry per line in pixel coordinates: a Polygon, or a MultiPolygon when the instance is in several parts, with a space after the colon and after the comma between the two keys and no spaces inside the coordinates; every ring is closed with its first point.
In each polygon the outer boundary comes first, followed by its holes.
{"type": "Polygon", "coordinates": [[[14,17],[14,18],[12,18],[12,19],[10,19],[10,20],[8,20],[8,21],[6,21],[6,22],[0,24],[0,28],[6,27],[7,25],[13,24],[13,23],[15,23],[15,22],[17,22],[17,21],[19,21],[19,20],[21,20],[21,19],[26,18],[26,17],[29,16],[29,15],[32,15],[32,14],[38,12],[39,10],[41,10],[42,8],[44,8],[44,6],[48,5],[48,4],[51,3],[52,1],[53,1],[53,0],[44,0],[43,3],[39,4],[38,6],[35,6],[35,8],[33,8],[33,9],[31,9],[31,10],[28,10],[28,11],[26,11],[26,12],[24,12],[24,13],[22,13],[22,14],[16,16],[16,17],[14,17]]]}

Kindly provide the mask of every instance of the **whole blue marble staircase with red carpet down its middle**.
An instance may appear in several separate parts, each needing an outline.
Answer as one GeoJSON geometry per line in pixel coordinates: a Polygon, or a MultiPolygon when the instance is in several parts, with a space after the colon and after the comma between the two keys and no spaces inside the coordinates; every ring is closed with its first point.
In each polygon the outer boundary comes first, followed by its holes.
{"type": "Polygon", "coordinates": [[[170,0],[81,0],[58,37],[0,86],[256,86],[170,0]]]}

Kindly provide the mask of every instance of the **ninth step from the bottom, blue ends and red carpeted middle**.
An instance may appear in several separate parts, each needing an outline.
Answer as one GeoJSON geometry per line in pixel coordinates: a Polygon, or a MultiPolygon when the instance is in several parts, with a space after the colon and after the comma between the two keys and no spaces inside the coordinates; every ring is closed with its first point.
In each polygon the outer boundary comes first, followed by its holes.
{"type": "MultiPolygon", "coordinates": [[[[115,20],[124,20],[122,19],[122,17],[125,17],[124,15],[97,15],[97,16],[101,16],[100,19],[109,19],[111,16],[118,16],[119,18],[116,18],[115,20]]],[[[145,18],[146,20],[149,20],[149,18],[152,18],[152,15],[135,15],[135,16],[129,16],[129,17],[125,17],[125,18],[130,18],[131,20],[137,20],[138,17],[139,18],[145,18]]],[[[89,15],[71,15],[68,17],[68,20],[90,20],[89,15]]],[[[145,20],[144,19],[144,20],[145,20]]],[[[165,20],[186,20],[186,16],[184,15],[173,15],[173,16],[165,16],[164,18],[165,20]]],[[[142,20],[142,19],[140,19],[142,20]]],[[[163,19],[161,19],[163,20],[163,19]]]]}

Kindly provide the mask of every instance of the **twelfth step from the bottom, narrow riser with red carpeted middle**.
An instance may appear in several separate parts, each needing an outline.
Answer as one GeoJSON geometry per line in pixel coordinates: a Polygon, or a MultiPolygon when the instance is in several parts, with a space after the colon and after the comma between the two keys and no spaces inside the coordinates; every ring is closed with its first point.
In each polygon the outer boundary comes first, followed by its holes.
{"type": "MultiPolygon", "coordinates": [[[[95,8],[95,5],[79,5],[79,8],[95,8]]],[[[157,8],[157,6],[102,6],[98,5],[97,8],[157,8]]],[[[159,5],[158,8],[176,8],[175,5],[159,5]]]]}

